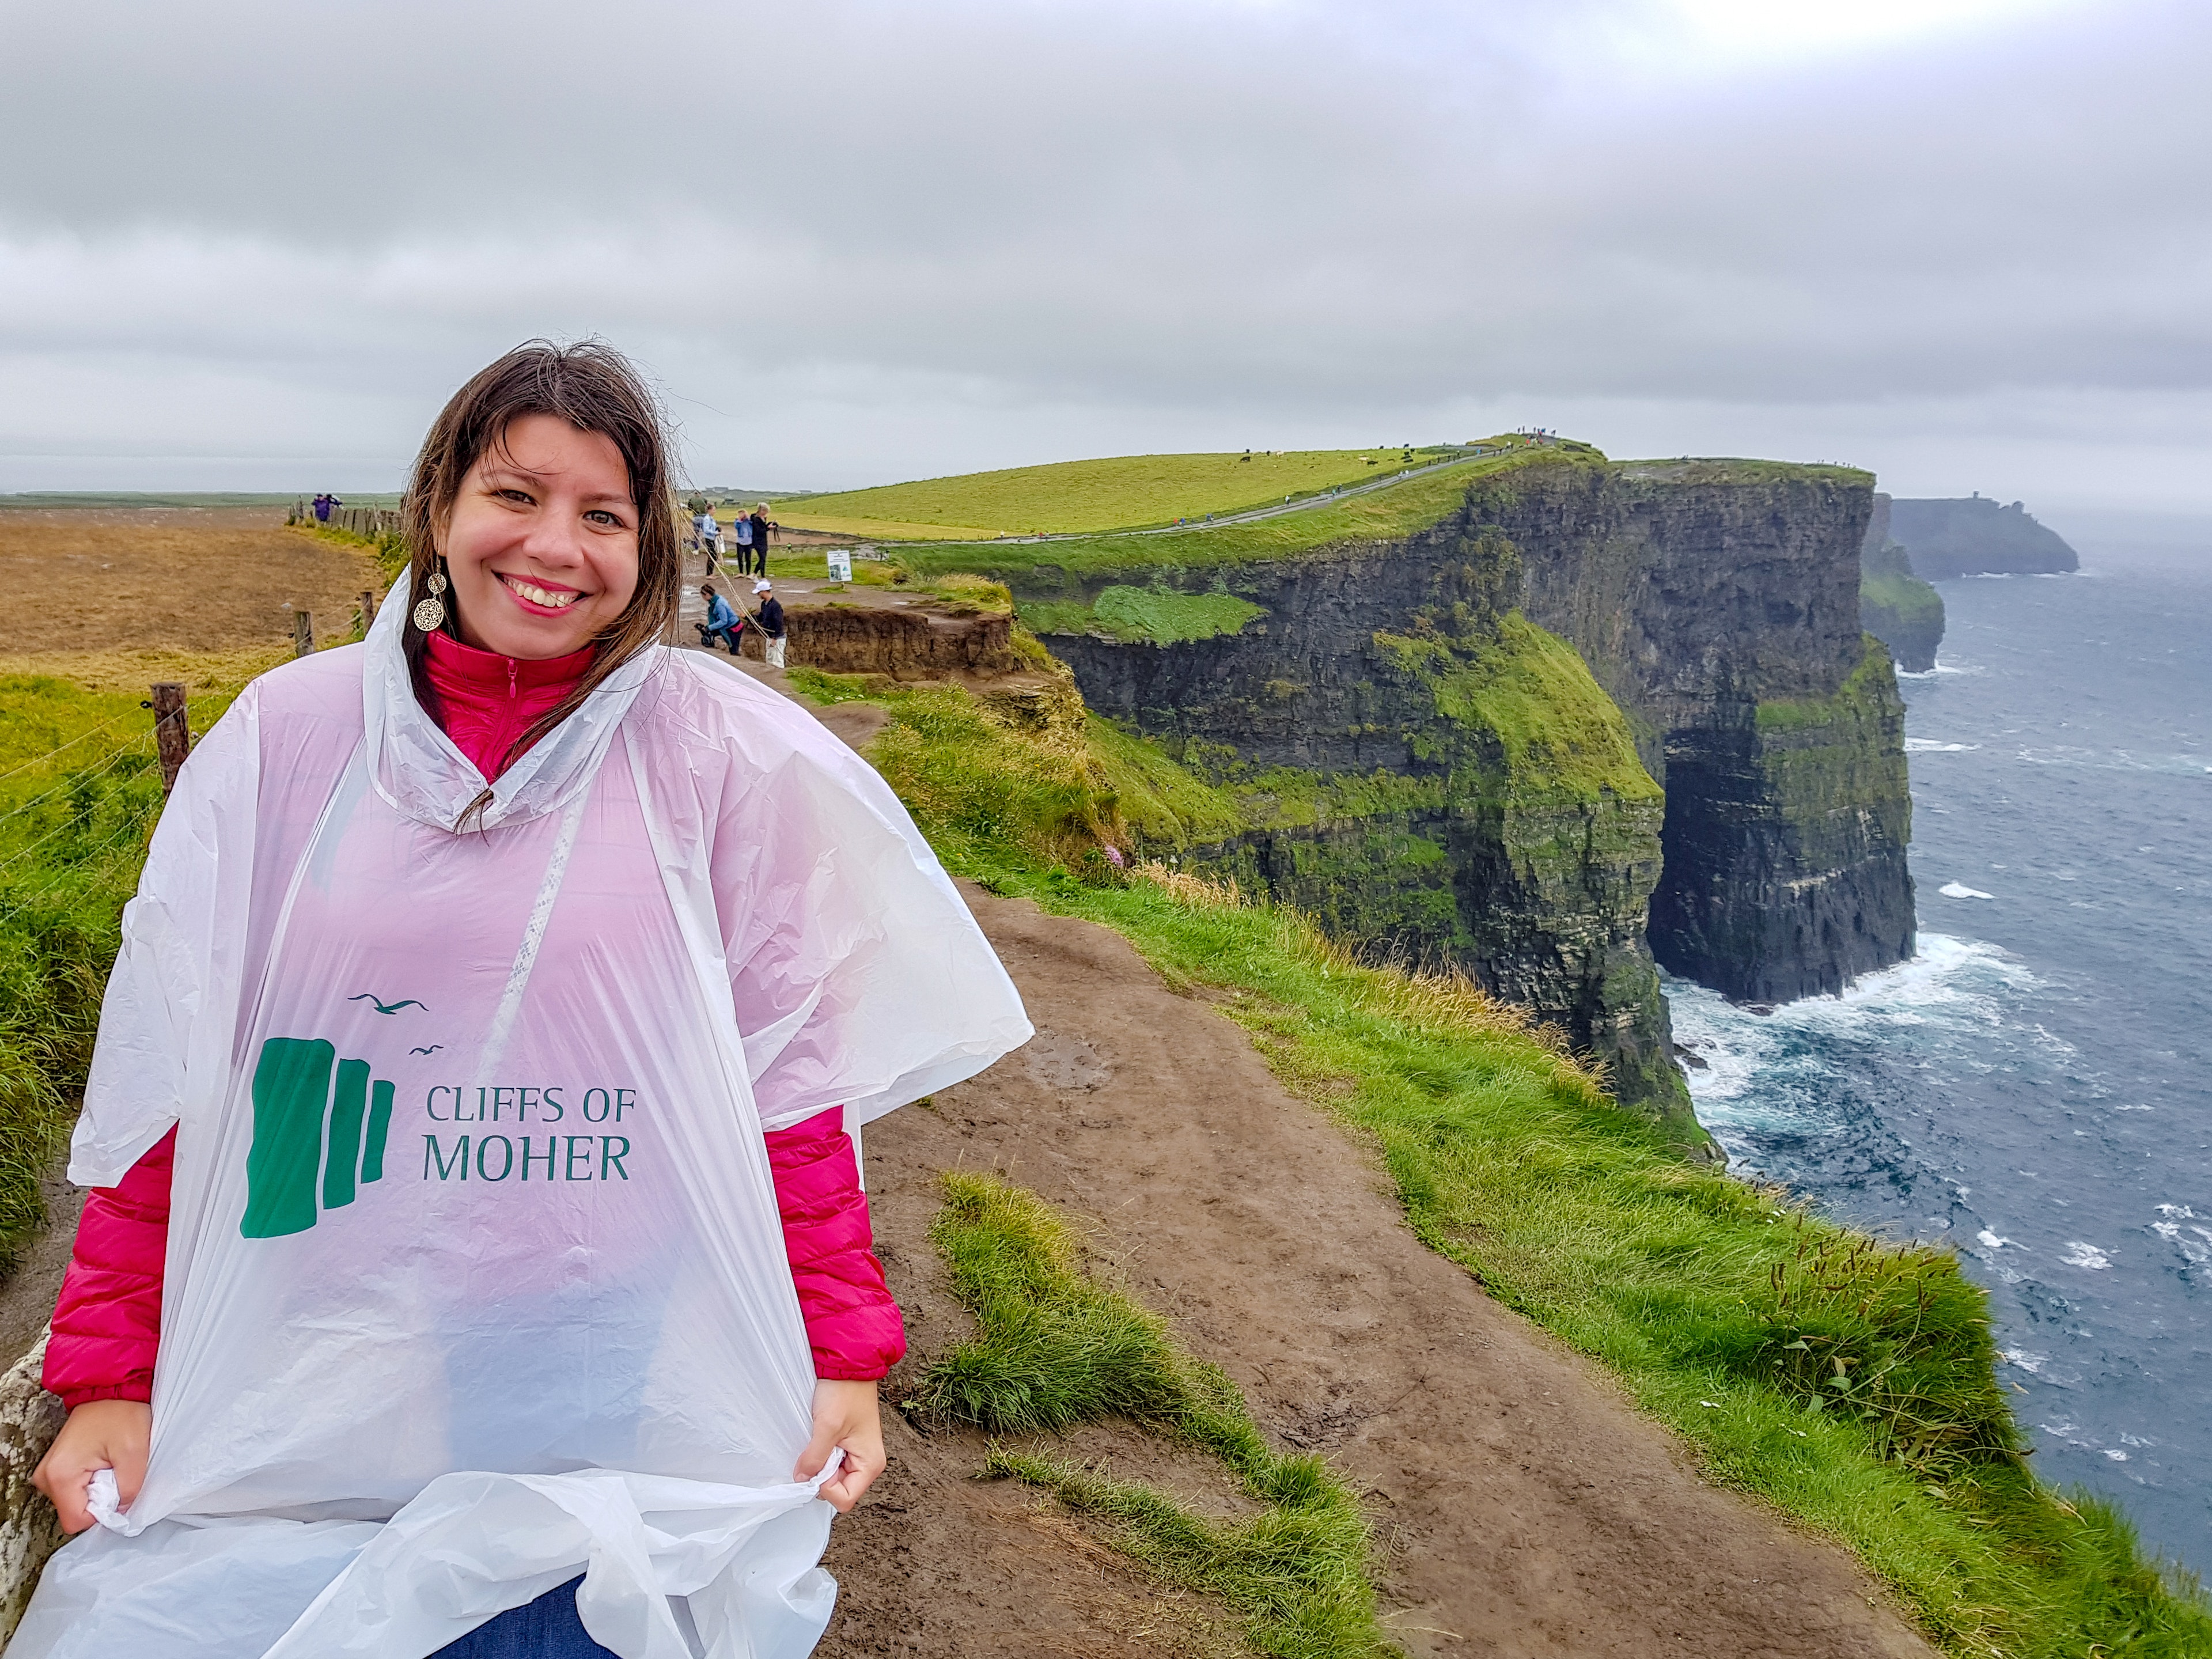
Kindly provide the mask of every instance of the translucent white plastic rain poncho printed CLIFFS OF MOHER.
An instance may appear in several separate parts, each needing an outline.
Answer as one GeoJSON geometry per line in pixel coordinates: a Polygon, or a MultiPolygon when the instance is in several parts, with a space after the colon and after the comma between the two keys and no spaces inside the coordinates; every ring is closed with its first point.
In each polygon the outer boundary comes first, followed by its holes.
{"type": "Polygon", "coordinates": [[[420,1659],[577,1573],[624,1659],[796,1659],[836,1586],[763,1128],[1029,1037],[905,810],[703,653],[493,785],[403,604],[206,734],[71,1179],[177,1133],[153,1453],[13,1659],[420,1659]]]}

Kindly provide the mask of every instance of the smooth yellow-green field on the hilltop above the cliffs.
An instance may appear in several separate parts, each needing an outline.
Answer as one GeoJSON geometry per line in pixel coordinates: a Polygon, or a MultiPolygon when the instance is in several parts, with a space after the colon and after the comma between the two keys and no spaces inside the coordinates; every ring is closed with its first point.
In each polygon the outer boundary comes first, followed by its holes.
{"type": "Polygon", "coordinates": [[[1079,535],[1237,513],[1285,495],[1363,484],[1451,449],[1283,449],[1243,456],[1115,456],[810,495],[776,520],[832,535],[978,540],[1079,535]]]}

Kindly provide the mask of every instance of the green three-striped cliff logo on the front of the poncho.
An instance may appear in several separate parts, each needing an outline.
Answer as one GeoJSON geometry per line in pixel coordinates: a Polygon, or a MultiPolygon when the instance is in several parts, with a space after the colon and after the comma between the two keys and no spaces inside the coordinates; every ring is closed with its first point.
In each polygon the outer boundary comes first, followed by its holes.
{"type": "Polygon", "coordinates": [[[270,1037],[254,1064],[239,1232],[283,1239],[312,1228],[323,1210],[345,1208],[358,1188],[385,1179],[389,1133],[392,1084],[372,1084],[367,1060],[338,1060],[321,1037],[270,1037]]]}

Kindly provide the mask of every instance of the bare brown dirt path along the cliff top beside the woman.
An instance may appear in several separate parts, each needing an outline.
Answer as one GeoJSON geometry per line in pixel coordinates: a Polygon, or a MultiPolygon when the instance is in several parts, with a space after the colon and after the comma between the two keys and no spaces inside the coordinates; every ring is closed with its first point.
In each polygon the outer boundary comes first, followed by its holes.
{"type": "MultiPolygon", "coordinates": [[[[1279,1442],[1371,1491],[1389,1628],[1411,1655],[1931,1652],[1840,1551],[1705,1486],[1595,1365],[1420,1248],[1369,1157],[1292,1099],[1245,1035],[1164,989],[1117,933],[969,891],[1040,1026],[975,1082],[867,1137],[867,1186],[916,1360],[953,1345],[927,1225],[967,1166],[1068,1206],[1130,1287],[1228,1367],[1279,1442]]],[[[891,1425],[894,1467],[838,1524],[825,1655],[1219,1650],[1219,1610],[1161,1597],[982,1442],[891,1425]]],[[[1234,1506],[1137,1436],[1124,1473],[1234,1506]]],[[[1214,1482],[1219,1486],[1219,1482],[1214,1482]]]]}

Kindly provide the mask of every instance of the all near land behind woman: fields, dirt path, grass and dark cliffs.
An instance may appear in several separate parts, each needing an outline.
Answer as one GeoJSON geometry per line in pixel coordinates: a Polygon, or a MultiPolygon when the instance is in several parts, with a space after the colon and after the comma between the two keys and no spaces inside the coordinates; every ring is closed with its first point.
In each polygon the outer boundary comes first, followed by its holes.
{"type": "MultiPolygon", "coordinates": [[[[1730,1175],[1683,1082],[1661,969],[1765,1006],[1913,951],[1874,484],[1500,434],[776,502],[787,666],[741,666],[1037,1026],[867,1128],[911,1352],[821,1652],[2212,1652],[2037,1480],[1958,1256],[1730,1175]]],[[[206,732],[405,557],[296,518],[0,507],[9,1626],[142,699],[206,732]]]]}

